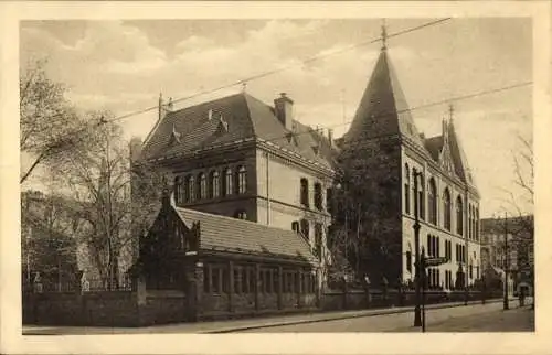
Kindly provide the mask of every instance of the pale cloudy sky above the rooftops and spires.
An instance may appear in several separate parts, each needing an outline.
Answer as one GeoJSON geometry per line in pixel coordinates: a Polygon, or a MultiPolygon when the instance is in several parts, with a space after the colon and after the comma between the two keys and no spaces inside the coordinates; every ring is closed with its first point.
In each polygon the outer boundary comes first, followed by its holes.
{"type": "MultiPolygon", "coordinates": [[[[434,20],[392,19],[385,25],[393,34],[434,20]]],[[[381,43],[369,42],[380,36],[381,24],[380,19],[22,21],[20,64],[47,57],[47,74],[67,86],[78,108],[116,116],[155,107],[160,93],[182,98],[286,67],[247,82],[247,93],[272,105],[285,92],[295,101],[296,119],[340,137],[375,64],[381,43]]],[[[453,19],[390,37],[389,54],[418,130],[439,135],[450,98],[532,80],[531,40],[531,20],[522,18],[453,19]],[[443,104],[417,108],[433,103],[443,104]]],[[[241,89],[182,100],[176,108],[241,89]]],[[[532,139],[532,87],[453,105],[481,194],[481,216],[492,216],[508,205],[505,190],[520,193],[513,154],[519,135],[532,139]]],[[[156,119],[152,109],[120,123],[128,138],[145,138],[156,119]]]]}

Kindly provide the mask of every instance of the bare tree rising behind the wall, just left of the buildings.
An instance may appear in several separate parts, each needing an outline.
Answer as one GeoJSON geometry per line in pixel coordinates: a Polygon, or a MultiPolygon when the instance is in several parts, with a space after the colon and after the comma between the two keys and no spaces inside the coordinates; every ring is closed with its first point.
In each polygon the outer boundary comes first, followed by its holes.
{"type": "MultiPolygon", "coordinates": [[[[108,121],[108,112],[93,112],[89,119],[108,121]]],[[[117,125],[98,126],[88,140],[87,147],[75,148],[56,170],[88,226],[81,241],[87,247],[89,261],[110,289],[119,280],[120,258],[125,254],[132,258],[138,238],[134,223],[155,213],[160,185],[152,170],[131,163],[129,146],[117,125]],[[135,180],[140,180],[142,190],[132,200],[135,180]]],[[[127,267],[132,262],[124,261],[127,267]]]]}

